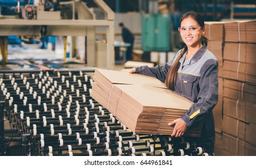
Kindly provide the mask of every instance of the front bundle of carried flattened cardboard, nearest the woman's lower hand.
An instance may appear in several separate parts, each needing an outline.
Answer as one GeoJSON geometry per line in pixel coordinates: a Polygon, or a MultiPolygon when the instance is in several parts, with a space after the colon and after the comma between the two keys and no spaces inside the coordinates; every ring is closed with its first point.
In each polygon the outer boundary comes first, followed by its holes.
{"type": "MultiPolygon", "coordinates": [[[[168,89],[138,85],[114,85],[120,90],[117,118],[136,133],[171,134],[168,123],[186,113],[192,102],[168,89]],[[152,98],[154,97],[154,98],[152,98]]],[[[110,100],[115,97],[110,96],[110,100]]],[[[187,136],[200,136],[200,129],[186,131],[187,136]]]]}

